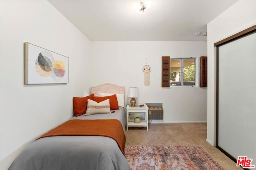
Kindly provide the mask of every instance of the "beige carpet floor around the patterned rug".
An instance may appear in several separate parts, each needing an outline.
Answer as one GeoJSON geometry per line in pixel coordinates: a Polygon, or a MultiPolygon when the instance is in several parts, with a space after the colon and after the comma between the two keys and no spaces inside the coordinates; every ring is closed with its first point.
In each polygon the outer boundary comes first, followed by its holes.
{"type": "Polygon", "coordinates": [[[146,127],[129,127],[125,131],[126,145],[201,146],[225,170],[242,170],[216,147],[206,142],[206,123],[159,123],[146,127]]]}

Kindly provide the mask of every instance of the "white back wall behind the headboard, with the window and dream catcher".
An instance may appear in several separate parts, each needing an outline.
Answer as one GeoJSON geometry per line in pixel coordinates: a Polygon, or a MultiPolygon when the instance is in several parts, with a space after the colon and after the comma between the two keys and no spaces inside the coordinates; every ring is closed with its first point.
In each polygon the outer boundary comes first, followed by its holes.
{"type": "MultiPolygon", "coordinates": [[[[206,56],[206,47],[207,43],[204,41],[94,41],[91,49],[94,75],[91,78],[92,85],[112,82],[125,86],[126,94],[128,87],[138,87],[138,104],[163,102],[165,123],[206,122],[207,88],[161,87],[162,56],[206,56]],[[142,67],[146,64],[146,58],[152,68],[150,86],[144,86],[142,67]]],[[[197,64],[199,68],[199,59],[197,64]]]]}

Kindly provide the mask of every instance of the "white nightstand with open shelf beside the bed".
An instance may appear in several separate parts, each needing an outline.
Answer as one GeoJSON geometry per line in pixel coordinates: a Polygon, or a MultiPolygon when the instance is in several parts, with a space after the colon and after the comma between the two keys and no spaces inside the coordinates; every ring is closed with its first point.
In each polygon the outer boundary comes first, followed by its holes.
{"type": "Polygon", "coordinates": [[[130,105],[126,106],[126,130],[128,131],[128,127],[132,126],[147,127],[148,131],[148,106],[146,104],[144,104],[144,107],[139,107],[137,105],[136,107],[131,107],[130,105]],[[144,114],[144,119],[141,119],[140,123],[134,123],[134,114],[144,114]],[[130,119],[130,117],[132,117],[132,119],[130,119]]]}

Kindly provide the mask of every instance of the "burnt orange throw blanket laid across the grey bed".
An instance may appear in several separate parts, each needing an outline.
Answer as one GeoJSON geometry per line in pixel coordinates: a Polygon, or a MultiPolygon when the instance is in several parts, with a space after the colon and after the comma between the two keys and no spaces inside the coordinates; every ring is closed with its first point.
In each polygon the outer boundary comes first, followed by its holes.
{"type": "Polygon", "coordinates": [[[122,124],[117,119],[69,120],[45,133],[38,139],[51,136],[110,137],[116,141],[120,150],[124,154],[126,137],[124,135],[122,124]]]}

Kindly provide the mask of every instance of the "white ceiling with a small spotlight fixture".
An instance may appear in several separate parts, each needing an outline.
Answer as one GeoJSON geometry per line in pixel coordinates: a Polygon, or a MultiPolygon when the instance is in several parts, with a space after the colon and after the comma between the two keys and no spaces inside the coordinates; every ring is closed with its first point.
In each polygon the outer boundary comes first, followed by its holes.
{"type": "Polygon", "coordinates": [[[91,41],[207,41],[207,23],[237,0],[48,0],[91,41]]]}

